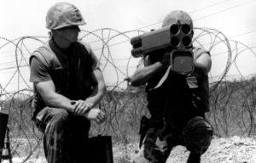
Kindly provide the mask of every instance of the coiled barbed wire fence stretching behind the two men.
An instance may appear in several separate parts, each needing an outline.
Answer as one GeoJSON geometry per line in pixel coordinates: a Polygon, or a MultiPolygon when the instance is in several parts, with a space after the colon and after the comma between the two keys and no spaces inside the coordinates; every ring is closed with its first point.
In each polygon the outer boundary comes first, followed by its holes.
{"type": "MultiPolygon", "coordinates": [[[[218,65],[214,67],[213,62],[209,74],[211,110],[207,113],[207,119],[212,123],[215,135],[255,136],[256,76],[244,76],[238,65],[238,57],[242,53],[255,56],[254,47],[229,40],[222,32],[214,29],[195,28],[194,31],[195,47],[208,50],[212,59],[221,56],[224,60],[223,70],[218,65]],[[228,76],[231,67],[235,67],[239,75],[228,76]],[[213,70],[218,73],[214,74],[213,70]]],[[[91,137],[99,134],[110,135],[113,143],[124,144],[138,141],[141,117],[149,116],[146,94],[144,87],[130,87],[124,79],[132,76],[138,61],[131,56],[131,37],[144,32],[120,32],[108,28],[81,32],[80,40],[89,40],[93,51],[102,62],[101,69],[107,84],[111,79],[114,80],[108,84],[108,92],[99,105],[106,113],[107,121],[102,126],[92,124],[91,137]]],[[[0,37],[0,40],[3,42],[0,47],[0,62],[5,66],[0,67],[0,72],[5,72],[1,74],[4,82],[0,83],[0,107],[9,114],[12,155],[26,162],[32,155],[43,153],[42,133],[38,132],[31,120],[33,95],[28,76],[28,59],[32,49],[35,50],[47,42],[49,37],[21,37],[15,40],[0,37]],[[7,47],[13,50],[8,52],[11,54],[4,57],[3,62],[1,51],[7,47]],[[12,59],[6,59],[9,57],[12,59]]]]}

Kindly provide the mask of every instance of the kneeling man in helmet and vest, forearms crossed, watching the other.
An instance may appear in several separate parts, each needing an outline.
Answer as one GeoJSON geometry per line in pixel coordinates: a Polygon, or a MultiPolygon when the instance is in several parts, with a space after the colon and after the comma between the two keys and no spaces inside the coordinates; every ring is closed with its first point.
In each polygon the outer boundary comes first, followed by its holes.
{"type": "Polygon", "coordinates": [[[32,119],[44,132],[49,163],[87,162],[90,121],[105,121],[96,109],[106,93],[101,63],[88,43],[78,41],[79,25],[85,22],[78,8],[55,3],[46,16],[49,42],[30,58],[32,119]]]}

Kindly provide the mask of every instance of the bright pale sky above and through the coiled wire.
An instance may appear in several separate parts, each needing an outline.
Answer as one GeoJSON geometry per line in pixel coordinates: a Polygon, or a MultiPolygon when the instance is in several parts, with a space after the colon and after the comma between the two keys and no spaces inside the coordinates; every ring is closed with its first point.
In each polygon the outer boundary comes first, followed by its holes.
{"type": "MultiPolygon", "coordinates": [[[[17,70],[15,68],[15,46],[12,43],[4,46],[8,43],[5,39],[15,40],[27,36],[48,37],[49,30],[45,28],[45,16],[49,8],[57,2],[60,1],[1,1],[0,84],[2,87],[7,86],[7,91],[25,88],[27,87],[26,82],[31,87],[32,83],[29,82],[28,67],[20,67],[25,82],[21,76],[18,77],[17,74],[14,76],[15,70],[17,70]],[[12,76],[14,76],[13,79],[12,76]],[[19,86],[18,83],[20,83],[19,86]]],[[[166,14],[172,10],[183,10],[190,14],[195,27],[212,28],[221,31],[230,40],[241,42],[248,47],[256,46],[256,0],[67,0],[65,2],[73,3],[83,14],[87,25],[80,26],[81,30],[96,31],[102,28],[115,30],[98,31],[96,35],[99,37],[113,37],[118,34],[117,31],[132,31],[127,33],[127,37],[135,37],[138,32],[134,30],[150,31],[151,29],[159,29],[166,14]]],[[[80,33],[80,37],[87,34],[84,31],[80,33]]],[[[200,30],[195,30],[197,34],[200,32],[200,30]]],[[[113,59],[114,65],[119,68],[118,72],[115,71],[113,65],[106,65],[106,59],[101,57],[103,75],[108,85],[123,81],[127,73],[128,76],[131,76],[136,69],[138,59],[131,59],[128,64],[128,59],[131,57],[131,44],[129,41],[127,42],[127,37],[124,35],[114,37],[108,42],[108,45],[119,44],[110,47],[110,53],[108,53],[107,48],[104,50],[105,56],[113,59]]],[[[38,39],[44,42],[47,41],[45,38],[38,39]]],[[[102,50],[98,48],[102,47],[102,42],[96,42],[97,40],[99,38],[92,35],[83,39],[84,42],[90,42],[92,49],[95,49],[97,57],[100,58],[102,50]]],[[[236,48],[233,41],[230,41],[232,49],[236,48]]],[[[17,41],[14,42],[17,43],[17,41]]],[[[201,37],[200,42],[201,44],[207,44],[211,42],[211,37],[209,35],[201,37]]],[[[21,50],[25,54],[26,61],[30,56],[26,48],[32,53],[41,44],[41,42],[32,39],[25,39],[21,50]]],[[[207,45],[205,48],[208,48],[207,45]]],[[[241,44],[238,44],[237,48],[239,52],[246,49],[241,44]]],[[[239,54],[236,58],[236,65],[235,63],[231,65],[228,75],[237,75],[239,71],[243,76],[254,74],[256,71],[254,53],[255,48],[252,48],[252,51],[245,50],[239,54]]],[[[219,76],[223,74],[228,59],[226,45],[219,43],[212,48],[211,54],[211,75],[219,76]]],[[[233,53],[233,59],[235,59],[235,55],[236,51],[233,53]]],[[[18,60],[20,59],[21,55],[19,53],[18,60]]],[[[26,65],[24,59],[21,61],[21,65],[26,65]]]]}

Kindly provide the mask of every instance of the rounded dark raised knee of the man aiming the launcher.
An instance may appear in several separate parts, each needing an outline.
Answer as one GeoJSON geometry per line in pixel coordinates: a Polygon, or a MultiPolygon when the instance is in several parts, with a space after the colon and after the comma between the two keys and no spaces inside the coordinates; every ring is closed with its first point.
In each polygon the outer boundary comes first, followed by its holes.
{"type": "Polygon", "coordinates": [[[204,118],[196,116],[183,129],[186,148],[190,152],[203,154],[207,151],[212,140],[212,126],[204,118]]]}

